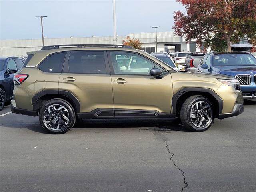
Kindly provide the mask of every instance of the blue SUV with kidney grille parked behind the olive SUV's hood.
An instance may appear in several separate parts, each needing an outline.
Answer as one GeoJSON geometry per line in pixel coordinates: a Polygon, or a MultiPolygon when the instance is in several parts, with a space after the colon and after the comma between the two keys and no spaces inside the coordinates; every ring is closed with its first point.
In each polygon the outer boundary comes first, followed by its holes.
{"type": "Polygon", "coordinates": [[[236,77],[243,97],[256,100],[256,58],[249,52],[221,52],[206,54],[196,72],[236,77]]]}

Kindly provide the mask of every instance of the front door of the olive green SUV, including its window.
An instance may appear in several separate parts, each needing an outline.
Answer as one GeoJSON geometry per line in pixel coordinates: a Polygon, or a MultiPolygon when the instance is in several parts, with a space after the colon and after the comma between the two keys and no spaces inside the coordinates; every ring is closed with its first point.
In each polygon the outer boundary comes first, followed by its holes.
{"type": "Polygon", "coordinates": [[[108,59],[115,118],[170,116],[173,91],[169,72],[137,53],[110,51],[108,59]],[[163,78],[151,76],[152,68],[160,68],[163,78]]]}

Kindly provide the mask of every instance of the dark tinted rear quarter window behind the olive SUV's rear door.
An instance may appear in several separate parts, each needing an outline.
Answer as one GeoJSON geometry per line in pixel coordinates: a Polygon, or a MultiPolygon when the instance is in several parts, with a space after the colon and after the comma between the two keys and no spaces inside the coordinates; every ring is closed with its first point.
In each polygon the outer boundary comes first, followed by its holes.
{"type": "Polygon", "coordinates": [[[48,56],[40,65],[39,69],[48,73],[61,73],[66,52],[48,56]]]}

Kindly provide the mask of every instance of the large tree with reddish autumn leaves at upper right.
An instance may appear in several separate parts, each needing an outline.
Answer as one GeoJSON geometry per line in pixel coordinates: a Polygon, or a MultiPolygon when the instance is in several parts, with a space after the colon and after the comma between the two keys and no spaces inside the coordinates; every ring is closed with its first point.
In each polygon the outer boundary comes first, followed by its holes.
{"type": "Polygon", "coordinates": [[[185,6],[186,12],[174,12],[172,29],[187,41],[204,41],[213,50],[231,51],[231,43],[239,38],[256,38],[256,0],[177,1],[185,6]]]}

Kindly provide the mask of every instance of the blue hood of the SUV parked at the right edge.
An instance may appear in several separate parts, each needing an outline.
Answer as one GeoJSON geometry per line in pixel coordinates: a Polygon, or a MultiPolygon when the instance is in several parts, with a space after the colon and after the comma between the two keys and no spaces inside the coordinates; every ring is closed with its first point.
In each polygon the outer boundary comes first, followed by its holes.
{"type": "Polygon", "coordinates": [[[256,74],[256,66],[212,66],[212,70],[219,74],[236,76],[240,75],[252,75],[256,74]]]}

